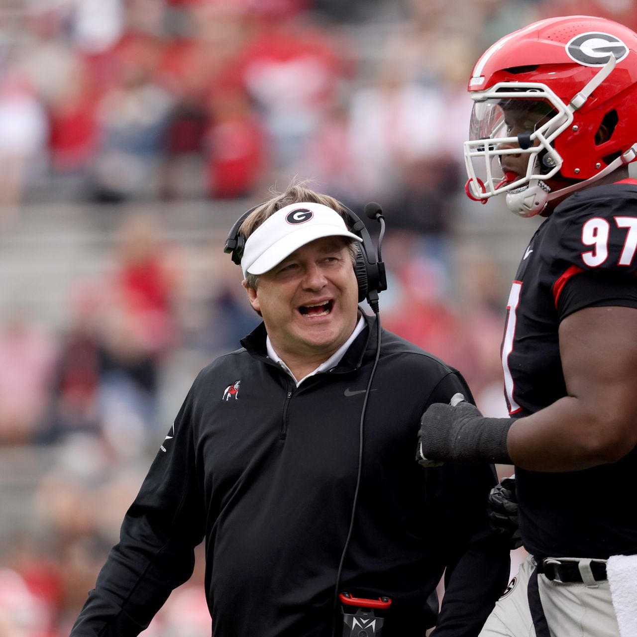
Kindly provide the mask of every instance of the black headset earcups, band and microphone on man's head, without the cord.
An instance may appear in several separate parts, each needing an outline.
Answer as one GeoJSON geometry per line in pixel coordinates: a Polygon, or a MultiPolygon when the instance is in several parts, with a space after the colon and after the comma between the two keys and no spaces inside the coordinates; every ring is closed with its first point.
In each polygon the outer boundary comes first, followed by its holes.
{"type": "MultiPolygon", "coordinates": [[[[238,266],[241,265],[241,257],[243,257],[243,250],[245,248],[246,238],[240,233],[239,229],[245,219],[254,212],[257,208],[262,206],[260,203],[253,208],[250,208],[247,212],[243,213],[228,233],[228,237],[225,240],[224,252],[232,255],[232,260],[238,266]]],[[[382,237],[385,233],[385,221],[383,218],[383,212],[380,205],[375,202],[368,203],[365,206],[365,213],[369,218],[375,219],[381,224],[381,236],[378,240],[378,258],[376,258],[375,250],[368,230],[365,224],[357,217],[352,210],[343,206],[341,208],[347,214],[348,229],[354,234],[358,234],[362,238],[362,243],[357,243],[356,262],[354,264],[354,273],[356,275],[356,281],[358,283],[359,290],[359,303],[367,299],[369,306],[378,314],[378,293],[387,289],[387,275],[385,274],[385,264],[380,260],[380,245],[382,243],[382,237]]]]}

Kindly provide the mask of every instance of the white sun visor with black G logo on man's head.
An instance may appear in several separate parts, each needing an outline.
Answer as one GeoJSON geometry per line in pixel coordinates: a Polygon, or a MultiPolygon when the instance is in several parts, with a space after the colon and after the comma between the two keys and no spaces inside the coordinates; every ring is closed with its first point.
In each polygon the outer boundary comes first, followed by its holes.
{"type": "Polygon", "coordinates": [[[245,242],[243,278],[248,273],[262,275],[306,243],[330,236],[362,241],[348,231],[343,217],[332,208],[308,202],[285,206],[259,225],[245,242]]]}

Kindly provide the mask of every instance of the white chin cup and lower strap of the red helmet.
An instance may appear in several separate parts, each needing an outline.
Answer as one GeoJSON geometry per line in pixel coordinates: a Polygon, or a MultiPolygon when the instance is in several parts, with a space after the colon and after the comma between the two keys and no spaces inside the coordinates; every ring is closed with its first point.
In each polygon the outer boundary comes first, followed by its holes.
{"type": "Polygon", "coordinates": [[[507,192],[506,205],[510,211],[519,217],[534,217],[535,215],[539,215],[541,211],[547,207],[549,201],[592,185],[602,177],[610,175],[613,170],[634,161],[636,157],[637,142],[634,143],[626,152],[617,157],[617,159],[613,159],[613,161],[610,162],[606,168],[599,171],[597,175],[594,175],[589,179],[573,183],[572,185],[559,190],[551,190],[550,186],[543,180],[531,180],[529,185],[507,192]]]}

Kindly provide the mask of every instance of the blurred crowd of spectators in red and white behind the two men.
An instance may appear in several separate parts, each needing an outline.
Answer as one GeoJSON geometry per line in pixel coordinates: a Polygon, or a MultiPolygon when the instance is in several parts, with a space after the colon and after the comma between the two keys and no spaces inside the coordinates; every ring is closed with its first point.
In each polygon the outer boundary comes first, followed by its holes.
{"type": "MultiPolygon", "coordinates": [[[[177,214],[192,199],[258,203],[294,178],[359,213],[377,199],[383,326],[503,415],[512,273],[477,245],[458,268],[450,250],[468,214],[466,81],[497,38],[568,13],[637,28],[633,0],[3,0],[0,231],[31,204],[177,214]]],[[[38,450],[18,469],[34,476],[28,524],[0,525],[1,637],[68,634],[175,401],[257,324],[213,237],[167,234],[152,214],[122,215],[112,267],[60,299],[62,329],[18,307],[0,322],[3,462],[38,450]]],[[[201,566],[144,634],[209,634],[201,566]]]]}

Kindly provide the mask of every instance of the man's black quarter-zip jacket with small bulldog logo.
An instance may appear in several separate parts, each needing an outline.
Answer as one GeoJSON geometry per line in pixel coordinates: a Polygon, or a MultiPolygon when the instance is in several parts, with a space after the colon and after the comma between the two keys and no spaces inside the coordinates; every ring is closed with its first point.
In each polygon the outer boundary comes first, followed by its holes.
{"type": "MultiPolygon", "coordinates": [[[[366,322],[336,367],[299,387],[268,358],[263,325],[199,373],[71,637],[140,633],[192,574],[204,538],[215,637],[331,634],[376,354],[375,318],[366,322]]],[[[477,635],[508,576],[508,550],[488,531],[494,469],[415,462],[427,406],[470,392],[408,341],[383,330],[381,343],[340,590],[392,598],[386,637],[436,621],[436,636],[477,635]]]]}

